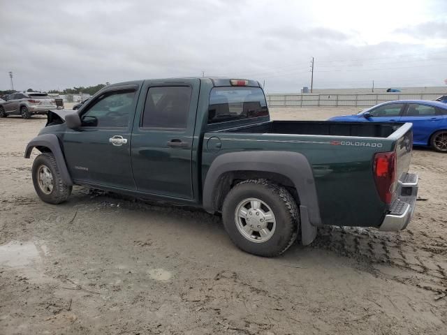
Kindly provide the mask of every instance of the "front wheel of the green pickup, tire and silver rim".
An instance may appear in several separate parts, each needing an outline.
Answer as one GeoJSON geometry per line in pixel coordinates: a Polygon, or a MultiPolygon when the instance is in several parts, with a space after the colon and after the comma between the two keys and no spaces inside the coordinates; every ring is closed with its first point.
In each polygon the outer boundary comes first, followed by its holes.
{"type": "Polygon", "coordinates": [[[60,204],[71,194],[72,186],[64,184],[56,158],[51,153],[43,153],[33,163],[33,184],[37,195],[49,204],[60,204]]]}

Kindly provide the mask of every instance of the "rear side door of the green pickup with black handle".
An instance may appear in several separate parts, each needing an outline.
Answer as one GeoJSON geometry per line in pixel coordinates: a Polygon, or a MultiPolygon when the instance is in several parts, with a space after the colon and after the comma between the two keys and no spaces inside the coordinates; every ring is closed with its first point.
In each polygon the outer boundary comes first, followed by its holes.
{"type": "Polygon", "coordinates": [[[199,85],[198,79],[143,85],[131,141],[138,191],[193,199],[191,148],[199,85]]]}

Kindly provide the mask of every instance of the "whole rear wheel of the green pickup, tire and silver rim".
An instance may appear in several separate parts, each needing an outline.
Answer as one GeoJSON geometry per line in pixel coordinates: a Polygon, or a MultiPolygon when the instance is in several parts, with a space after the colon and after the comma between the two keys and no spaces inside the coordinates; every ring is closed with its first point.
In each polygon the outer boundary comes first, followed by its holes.
{"type": "Polygon", "coordinates": [[[254,255],[281,255],[298,236],[298,206],[286,188],[265,179],[242,181],[226,196],[223,225],[233,243],[254,255]]]}

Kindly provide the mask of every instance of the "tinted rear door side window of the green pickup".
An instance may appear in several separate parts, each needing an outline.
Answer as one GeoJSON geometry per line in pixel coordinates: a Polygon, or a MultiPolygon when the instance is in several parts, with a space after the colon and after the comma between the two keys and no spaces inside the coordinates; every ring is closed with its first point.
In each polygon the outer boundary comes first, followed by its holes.
{"type": "Polygon", "coordinates": [[[147,91],[141,127],[185,129],[191,92],[189,86],[150,87],[147,91]]]}

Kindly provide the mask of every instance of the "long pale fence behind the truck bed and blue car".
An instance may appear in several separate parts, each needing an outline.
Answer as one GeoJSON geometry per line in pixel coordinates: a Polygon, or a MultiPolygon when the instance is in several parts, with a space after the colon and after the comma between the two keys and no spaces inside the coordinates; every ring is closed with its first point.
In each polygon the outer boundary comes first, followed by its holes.
{"type": "Polygon", "coordinates": [[[270,107],[369,107],[395,100],[435,100],[439,94],[268,94],[270,107]]]}

